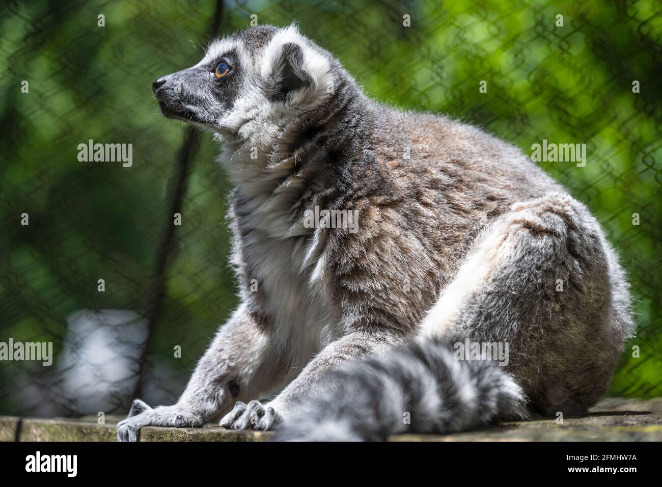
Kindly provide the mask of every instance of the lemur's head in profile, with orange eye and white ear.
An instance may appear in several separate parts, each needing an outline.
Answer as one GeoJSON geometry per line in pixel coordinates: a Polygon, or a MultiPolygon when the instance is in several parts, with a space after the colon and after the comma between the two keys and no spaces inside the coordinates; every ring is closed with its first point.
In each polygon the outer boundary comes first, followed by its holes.
{"type": "Polygon", "coordinates": [[[268,139],[329,99],[334,64],[295,27],[261,26],[216,40],[201,62],[152,87],[168,118],[226,137],[268,139]]]}

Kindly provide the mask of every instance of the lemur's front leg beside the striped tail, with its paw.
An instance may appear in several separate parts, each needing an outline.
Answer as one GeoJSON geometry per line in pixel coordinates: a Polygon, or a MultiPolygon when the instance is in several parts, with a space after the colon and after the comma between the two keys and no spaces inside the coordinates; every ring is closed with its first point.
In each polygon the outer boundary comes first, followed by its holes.
{"type": "Polygon", "coordinates": [[[228,429],[268,430],[289,417],[299,400],[314,392],[314,384],[328,370],[366,355],[379,355],[404,340],[393,333],[354,332],[330,343],[308,362],[301,373],[274,400],[261,404],[253,400],[248,404],[238,402],[220,421],[228,429]]]}

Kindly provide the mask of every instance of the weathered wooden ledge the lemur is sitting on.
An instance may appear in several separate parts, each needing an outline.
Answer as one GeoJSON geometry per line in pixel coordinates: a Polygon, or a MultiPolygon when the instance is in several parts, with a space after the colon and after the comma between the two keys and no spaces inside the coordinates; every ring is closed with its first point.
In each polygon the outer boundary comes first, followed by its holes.
{"type": "MultiPolygon", "coordinates": [[[[0,441],[115,441],[120,418],[40,419],[0,416],[0,441]]],[[[266,441],[271,433],[202,428],[146,427],[140,441],[266,441]]],[[[536,419],[452,435],[395,435],[390,441],[662,441],[662,398],[607,398],[583,417],[536,419]]]]}

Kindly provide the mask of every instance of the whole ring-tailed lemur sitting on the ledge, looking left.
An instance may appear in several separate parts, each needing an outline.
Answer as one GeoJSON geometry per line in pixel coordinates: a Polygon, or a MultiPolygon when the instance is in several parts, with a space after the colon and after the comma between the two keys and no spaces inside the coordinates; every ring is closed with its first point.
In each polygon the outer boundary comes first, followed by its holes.
{"type": "Polygon", "coordinates": [[[179,402],[134,401],[118,439],[228,411],[222,425],[283,439],[379,439],[604,392],[632,323],[624,273],[585,205],[516,148],[369,100],[293,26],[217,40],[154,94],[222,140],[242,302],[179,402]],[[357,227],[328,217],[342,211],[357,227]],[[508,366],[455,360],[448,337],[508,344],[508,366]]]}

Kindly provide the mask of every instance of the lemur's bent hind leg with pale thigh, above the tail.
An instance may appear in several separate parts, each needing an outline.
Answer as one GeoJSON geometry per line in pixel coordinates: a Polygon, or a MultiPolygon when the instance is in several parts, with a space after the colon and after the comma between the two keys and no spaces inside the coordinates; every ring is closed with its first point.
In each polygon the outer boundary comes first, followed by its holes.
{"type": "Polygon", "coordinates": [[[516,203],[477,240],[422,334],[507,343],[532,408],[577,413],[618,359],[610,274],[619,272],[584,205],[561,193],[516,203]]]}

